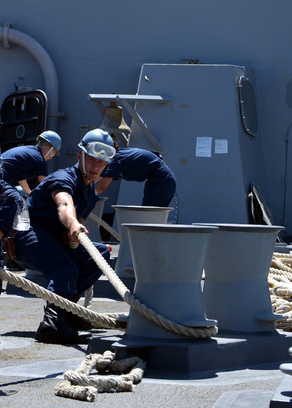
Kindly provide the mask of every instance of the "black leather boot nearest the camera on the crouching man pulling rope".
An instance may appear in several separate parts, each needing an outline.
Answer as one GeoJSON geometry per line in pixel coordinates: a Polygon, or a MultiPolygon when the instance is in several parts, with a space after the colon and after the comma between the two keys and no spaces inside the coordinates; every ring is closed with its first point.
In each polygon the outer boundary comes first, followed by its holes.
{"type": "Polygon", "coordinates": [[[53,303],[45,306],[43,322],[40,322],[34,338],[41,343],[88,344],[90,332],[78,332],[64,317],[64,310],[53,303]]]}

